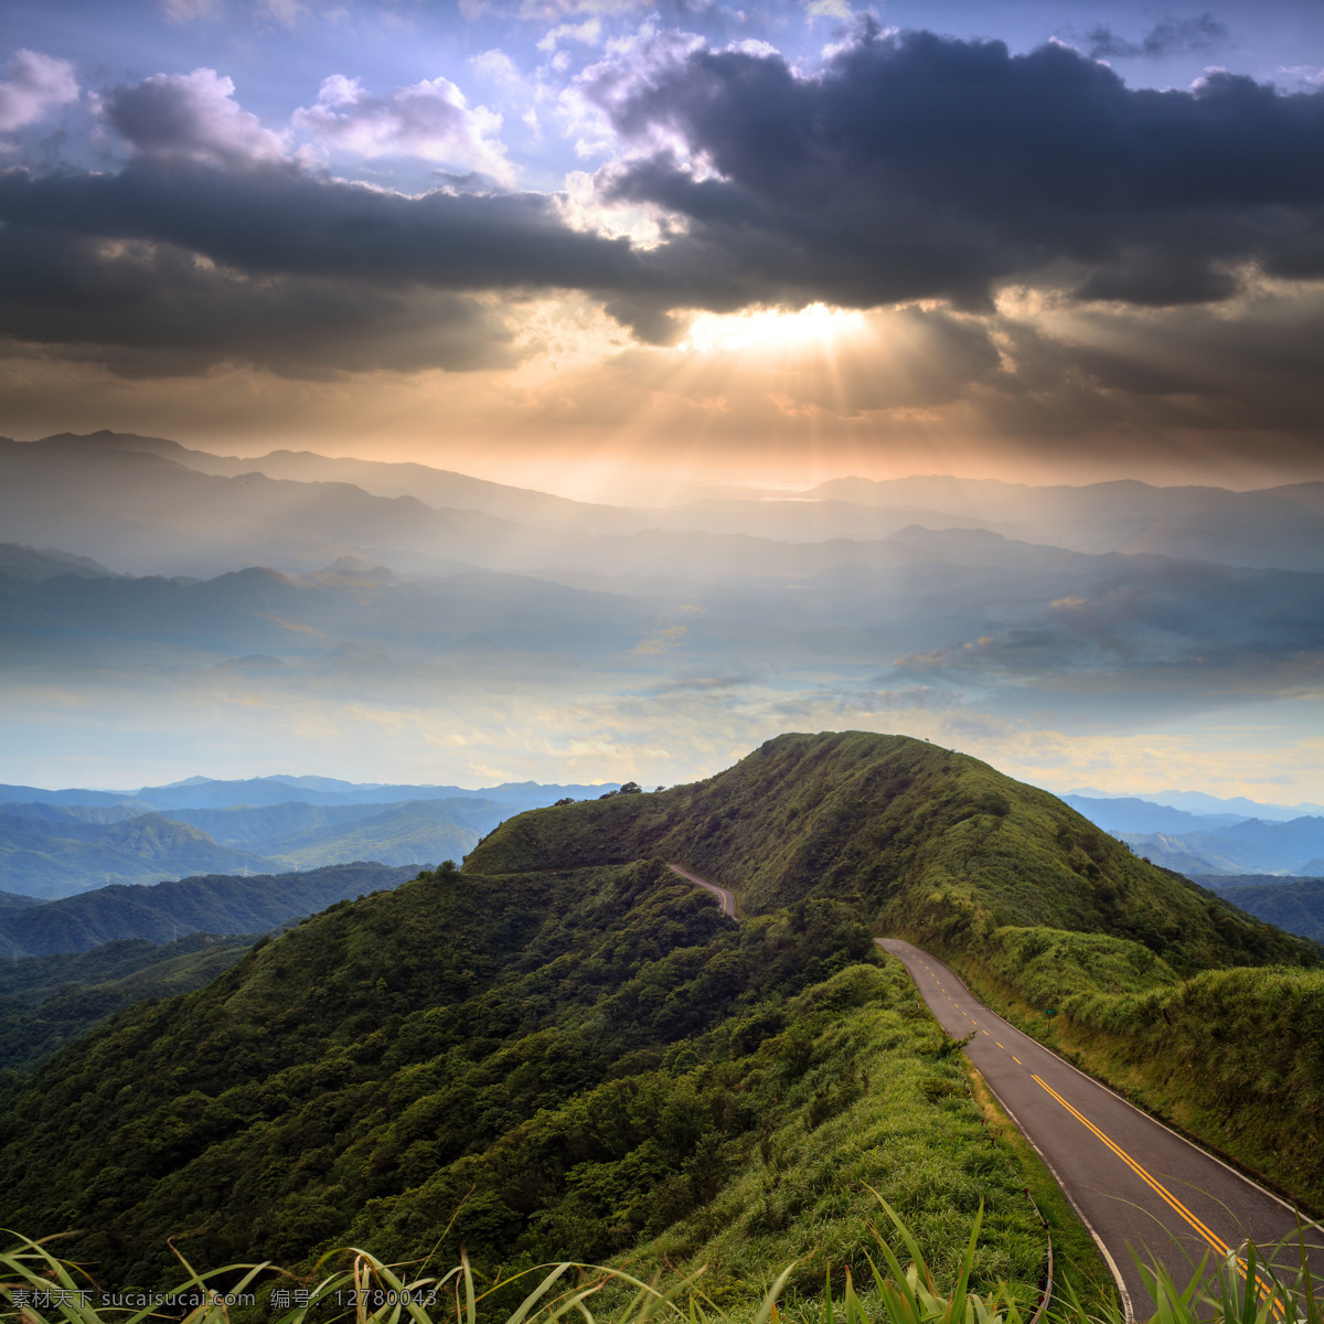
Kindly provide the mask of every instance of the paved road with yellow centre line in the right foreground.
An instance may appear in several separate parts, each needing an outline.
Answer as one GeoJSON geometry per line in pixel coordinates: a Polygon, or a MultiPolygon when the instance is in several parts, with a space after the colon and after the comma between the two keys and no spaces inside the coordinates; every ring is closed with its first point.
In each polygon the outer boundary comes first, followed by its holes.
{"type": "MultiPolygon", "coordinates": [[[[1283,1201],[1010,1026],[941,961],[898,939],[876,941],[906,965],[948,1034],[974,1031],[967,1054],[1094,1233],[1128,1319],[1151,1313],[1128,1247],[1185,1284],[1206,1251],[1213,1263],[1246,1239],[1268,1249],[1295,1231],[1283,1201]]],[[[1324,1272],[1324,1255],[1312,1254],[1312,1271],[1316,1260],[1324,1272]]]]}

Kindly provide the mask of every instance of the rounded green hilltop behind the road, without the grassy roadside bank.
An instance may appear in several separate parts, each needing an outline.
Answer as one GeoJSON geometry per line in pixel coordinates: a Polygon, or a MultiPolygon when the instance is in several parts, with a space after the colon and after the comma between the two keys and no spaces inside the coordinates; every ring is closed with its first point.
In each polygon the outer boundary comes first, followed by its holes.
{"type": "Polygon", "coordinates": [[[1178,973],[1308,953],[1046,790],[924,740],[858,731],[779,736],[707,781],[522,814],[466,869],[654,855],[730,887],[748,914],[850,898],[879,932],[944,949],[1043,924],[1133,940],[1178,973]]]}

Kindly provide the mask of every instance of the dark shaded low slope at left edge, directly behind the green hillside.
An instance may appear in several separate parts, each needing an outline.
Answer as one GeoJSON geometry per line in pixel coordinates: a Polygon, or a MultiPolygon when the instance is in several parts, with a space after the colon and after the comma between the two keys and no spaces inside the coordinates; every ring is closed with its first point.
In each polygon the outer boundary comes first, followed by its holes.
{"type": "Polygon", "coordinates": [[[0,963],[0,1072],[32,1070],[106,1017],[211,984],[257,933],[189,933],[177,943],[126,939],[81,956],[0,963]]]}

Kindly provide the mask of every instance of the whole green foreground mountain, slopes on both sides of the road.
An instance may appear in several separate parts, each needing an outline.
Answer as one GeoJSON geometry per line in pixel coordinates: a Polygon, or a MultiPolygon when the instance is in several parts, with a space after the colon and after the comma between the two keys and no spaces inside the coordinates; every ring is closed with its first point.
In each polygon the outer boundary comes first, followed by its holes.
{"type": "MultiPolygon", "coordinates": [[[[1045,1006],[1063,1035],[1157,1014],[1194,1054],[1184,1124],[1312,1198],[1317,1152],[1280,1082],[1317,1064],[1317,945],[978,760],[839,732],[514,816],[462,871],[340,903],[207,988],[120,1010],[0,1083],[0,1218],[75,1234],[70,1255],[142,1284],[173,1271],[180,1226],[205,1263],[352,1243],[389,1260],[465,1246],[485,1274],[553,1254],[688,1271],[724,1262],[730,1229],[776,1258],[810,1226],[863,1263],[859,1177],[920,1235],[977,1194],[1000,1276],[1033,1303],[1037,1178],[990,1145],[879,929],[1014,994],[1031,1029],[1045,1006]],[[1210,1035],[1210,998],[1234,988],[1258,1001],[1210,1035]],[[1264,1035],[1298,992],[1298,1033],[1264,1035]]],[[[1151,1100],[1170,1068],[1145,1047],[1128,1087],[1151,1100]]],[[[1086,1282],[1088,1247],[1071,1251],[1086,1282]]]]}

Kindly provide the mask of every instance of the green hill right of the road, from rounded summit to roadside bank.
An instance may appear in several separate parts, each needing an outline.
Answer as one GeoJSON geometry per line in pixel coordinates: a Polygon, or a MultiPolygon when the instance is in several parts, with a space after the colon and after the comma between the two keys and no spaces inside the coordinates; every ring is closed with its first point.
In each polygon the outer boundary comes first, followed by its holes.
{"type": "Polygon", "coordinates": [[[696,869],[745,912],[857,906],[1136,1102],[1324,1207],[1321,948],[1136,857],[1047,792],[923,740],[786,735],[707,781],[522,814],[466,867],[634,854],[696,869]],[[1053,1027],[1049,1008],[1066,1012],[1053,1027]],[[1164,1026],[1188,1026],[1180,1054],[1152,1021],[1161,1008],[1164,1026]]]}

